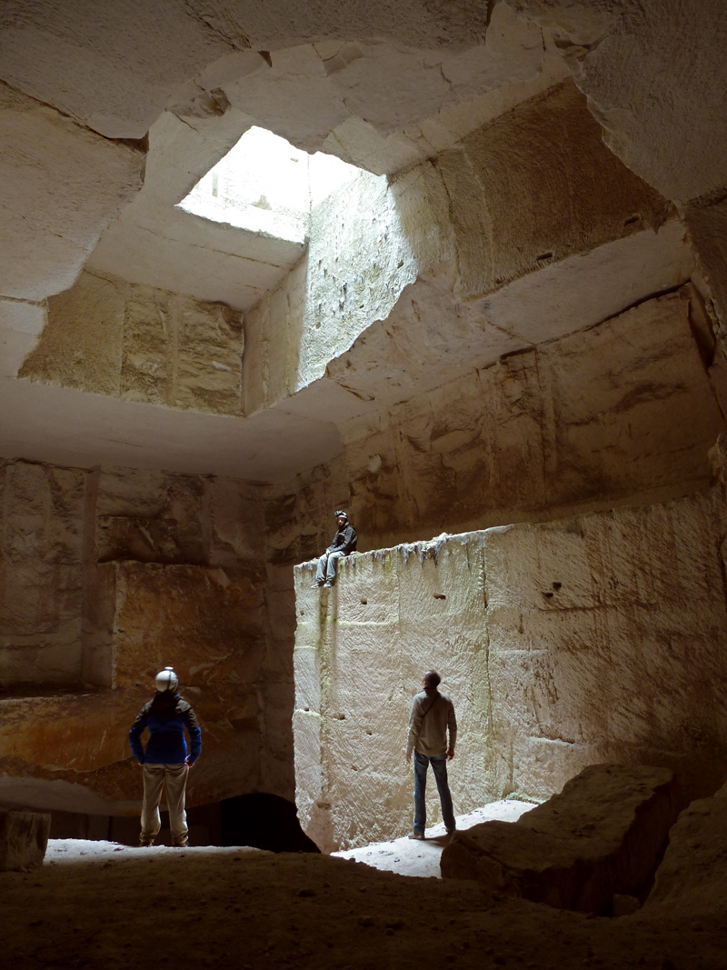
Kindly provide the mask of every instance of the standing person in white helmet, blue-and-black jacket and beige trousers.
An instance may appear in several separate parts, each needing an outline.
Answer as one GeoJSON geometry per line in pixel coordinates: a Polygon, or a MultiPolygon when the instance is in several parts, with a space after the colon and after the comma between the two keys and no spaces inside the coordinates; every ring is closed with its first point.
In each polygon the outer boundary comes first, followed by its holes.
{"type": "Polygon", "coordinates": [[[155,678],[156,695],[144,704],[129,731],[131,749],[143,768],[142,833],[140,846],[152,846],[162,821],[159,802],[165,792],[169,809],[172,842],[183,848],[189,839],[186,789],[190,767],[202,751],[202,731],[192,705],[177,694],[178,678],[172,667],[165,667],[155,678]],[[149,729],[146,751],[142,733],[149,729]],[[189,732],[191,753],[187,754],[184,728],[189,732]]]}

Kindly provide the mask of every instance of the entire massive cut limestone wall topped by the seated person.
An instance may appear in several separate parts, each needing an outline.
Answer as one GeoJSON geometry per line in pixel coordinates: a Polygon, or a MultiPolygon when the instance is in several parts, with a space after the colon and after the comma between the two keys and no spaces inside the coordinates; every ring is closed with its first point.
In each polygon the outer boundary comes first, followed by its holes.
{"type": "MultiPolygon", "coordinates": [[[[412,696],[443,675],[456,811],[547,796],[585,764],[727,769],[721,486],[669,504],[356,554],[330,593],[296,573],[297,801],[325,850],[403,834],[412,696]]],[[[430,798],[433,822],[439,818],[430,798]]]]}

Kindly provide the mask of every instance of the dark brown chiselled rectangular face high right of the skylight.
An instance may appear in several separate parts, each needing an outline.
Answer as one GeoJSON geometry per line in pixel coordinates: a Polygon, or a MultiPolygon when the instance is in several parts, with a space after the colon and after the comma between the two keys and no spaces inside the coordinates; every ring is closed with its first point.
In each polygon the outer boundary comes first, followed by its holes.
{"type": "Polygon", "coordinates": [[[634,212],[658,224],[666,206],[603,145],[572,83],[502,114],[462,146],[442,152],[437,166],[452,200],[465,298],[532,272],[544,257],[562,259],[622,236],[634,212]],[[563,198],[569,199],[567,215],[563,198]],[[553,219],[553,211],[561,217],[553,219]]]}

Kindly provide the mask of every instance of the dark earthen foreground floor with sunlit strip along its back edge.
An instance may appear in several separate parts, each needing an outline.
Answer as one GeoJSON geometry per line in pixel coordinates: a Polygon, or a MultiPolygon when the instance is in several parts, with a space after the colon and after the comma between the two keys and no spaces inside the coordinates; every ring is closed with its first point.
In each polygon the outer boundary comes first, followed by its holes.
{"type": "Polygon", "coordinates": [[[412,878],[431,875],[442,840],[436,829],[429,834],[434,837],[424,843],[396,840],[344,854],[354,858],[54,841],[41,868],[0,873],[3,965],[13,970],[727,966],[722,900],[698,919],[678,900],[670,908],[608,920],[504,898],[476,883],[412,878]],[[407,874],[356,861],[366,853],[369,862],[407,874]]]}

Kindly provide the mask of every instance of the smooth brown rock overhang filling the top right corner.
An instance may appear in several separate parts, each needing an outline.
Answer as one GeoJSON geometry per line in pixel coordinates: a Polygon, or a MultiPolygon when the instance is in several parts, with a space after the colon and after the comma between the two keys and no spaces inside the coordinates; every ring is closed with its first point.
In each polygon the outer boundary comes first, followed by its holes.
{"type": "Polygon", "coordinates": [[[723,46],[727,34],[720,0],[702,0],[699,16],[680,0],[507,2],[553,37],[604,127],[604,141],[630,169],[670,199],[721,196],[718,92],[727,67],[720,59],[703,70],[708,51],[723,46]]]}

